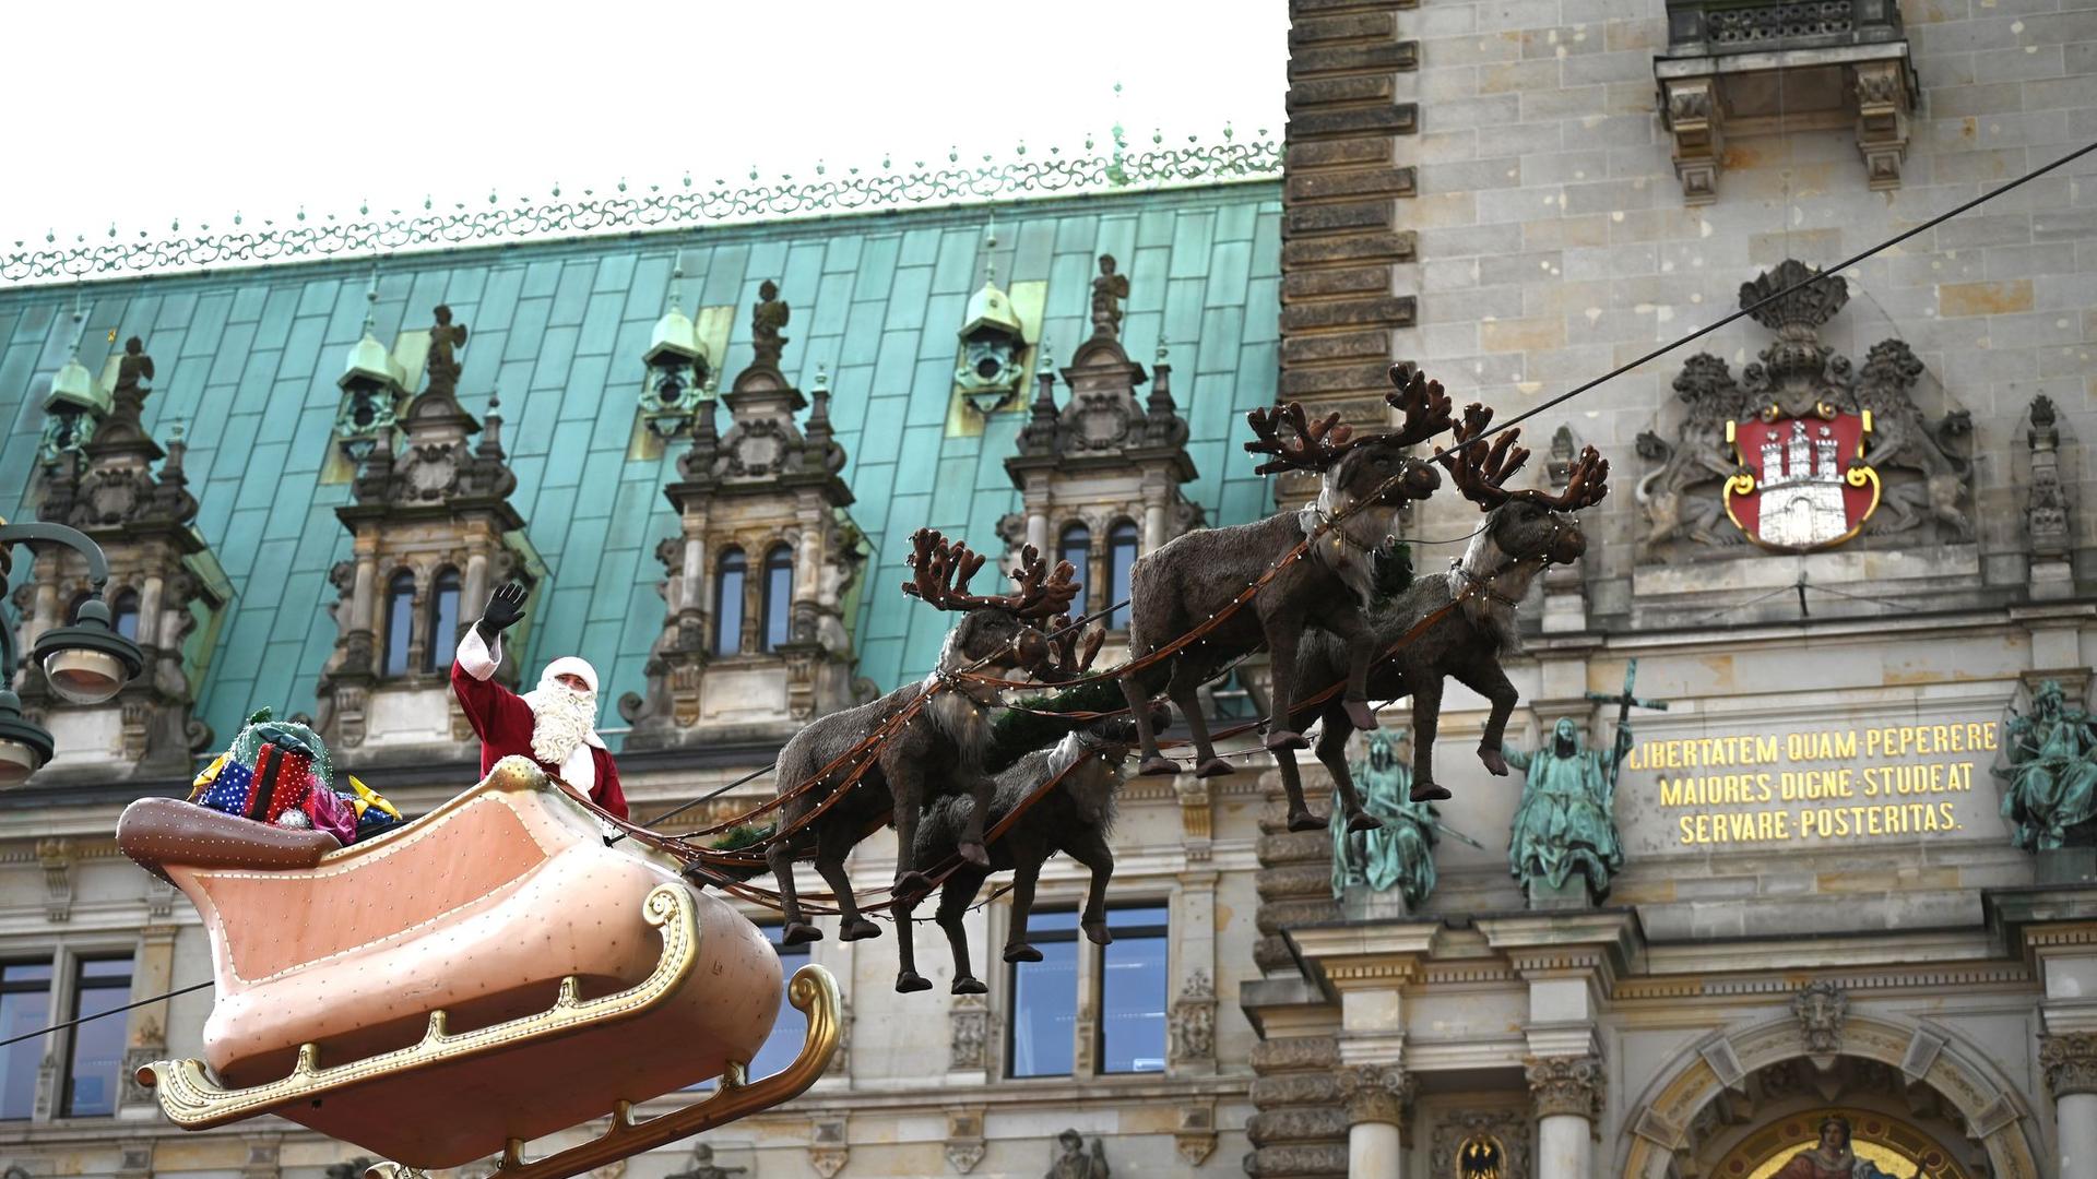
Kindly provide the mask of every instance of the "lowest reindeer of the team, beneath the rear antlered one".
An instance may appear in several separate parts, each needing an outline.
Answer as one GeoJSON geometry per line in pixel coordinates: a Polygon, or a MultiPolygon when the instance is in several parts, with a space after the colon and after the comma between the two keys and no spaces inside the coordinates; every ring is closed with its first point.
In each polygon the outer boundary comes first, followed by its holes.
{"type": "MultiPolygon", "coordinates": [[[[1028,808],[1021,822],[990,843],[988,864],[963,864],[946,877],[933,921],[946,931],[946,942],[954,950],[954,994],[990,990],[969,967],[969,931],[960,919],[992,873],[1013,873],[1013,927],[1004,938],[1004,961],[1042,961],[1042,952],[1028,944],[1028,915],[1034,910],[1034,883],[1040,879],[1042,862],[1057,852],[1093,871],[1078,927],[1099,946],[1114,940],[1107,934],[1107,881],[1114,877],[1107,833],[1114,827],[1114,791],[1122,785],[1122,764],[1128,759],[1132,743],[1134,726],[1126,717],[1105,720],[1065,734],[1053,749],[1028,753],[998,774],[998,789],[990,803],[992,822],[1002,822],[1059,774],[1061,780],[1028,808]]],[[[956,841],[975,822],[975,799],[950,795],[933,801],[918,827],[914,860],[937,864],[952,856],[956,841]]],[[[895,904],[895,948],[902,955],[895,990],[906,994],[931,990],[931,980],[916,971],[910,942],[914,908],[914,902],[895,904]]]]}

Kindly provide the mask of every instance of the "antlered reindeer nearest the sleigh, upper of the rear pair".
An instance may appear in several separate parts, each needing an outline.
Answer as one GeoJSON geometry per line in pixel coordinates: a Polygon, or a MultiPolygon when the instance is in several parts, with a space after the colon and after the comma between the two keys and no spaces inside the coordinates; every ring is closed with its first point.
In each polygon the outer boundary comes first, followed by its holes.
{"type": "MultiPolygon", "coordinates": [[[[990,676],[1034,671],[1063,655],[1063,644],[1051,644],[1036,627],[1042,619],[1065,610],[1078,594],[1072,564],[1048,562],[1028,545],[1013,571],[1017,592],[990,596],[969,594],[969,577],[983,566],[983,556],[963,543],[948,543],[931,529],[910,537],[912,579],[904,594],[939,610],[963,610],[960,623],[948,631],[939,663],[916,682],[904,684],[879,701],[809,722],[780,749],[774,780],[780,791],[822,776],[820,785],[780,806],[778,829],[791,833],[765,848],[765,862],[780,885],[780,908],[786,919],[780,938],[788,944],[822,938],[816,925],[801,919],[795,896],[793,864],[799,852],[814,843],[816,873],[830,885],[839,908],[839,938],[856,942],[879,938],[881,927],[868,921],[851,896],[845,856],[866,835],[881,829],[883,816],[895,824],[895,892],[929,889],[912,856],[916,824],[925,803],[948,793],[975,799],[971,820],[958,835],[958,852],[971,864],[988,864],[981,816],[990,810],[992,778],[983,772],[983,751],[990,745],[988,701],[952,680],[967,667],[990,676]],[[942,684],[944,682],[944,684],[942,684]],[[929,699],[918,703],[921,696],[929,699]],[[921,709],[908,724],[895,726],[906,709],[921,709]],[[887,736],[866,753],[853,749],[877,732],[887,736]],[[805,829],[801,818],[816,810],[866,759],[853,791],[833,803],[805,829]]],[[[1097,644],[1095,644],[1097,650],[1097,644]]]]}

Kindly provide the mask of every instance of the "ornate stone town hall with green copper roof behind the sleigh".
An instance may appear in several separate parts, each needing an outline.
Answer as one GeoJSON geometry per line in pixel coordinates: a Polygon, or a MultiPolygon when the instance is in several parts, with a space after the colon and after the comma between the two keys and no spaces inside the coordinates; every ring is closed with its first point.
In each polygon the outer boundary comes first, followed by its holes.
{"type": "MultiPolygon", "coordinates": [[[[893,590],[916,527],[1061,552],[1101,608],[1134,554],[1302,497],[1239,447],[1277,388],[1374,424],[1415,361],[1508,417],[1751,306],[1525,424],[1520,478],[1592,445],[1615,493],[1514,610],[1510,776],[1451,686],[1455,797],[1342,841],[1409,887],[1288,833],[1264,757],[1132,778],[1111,946],[1059,860],[1044,961],[988,996],[893,994],[893,929],[782,948],[843,984],[833,1072],[621,1173],[1042,1175],[1074,1129],[1122,1175],[1768,1177],[1839,1114],[1896,1175],[2097,1175],[2089,166],[1810,281],[2097,138],[2097,10],[1292,17],[1279,185],[0,292],[4,514],[94,533],[155,661],[101,709],[23,678],[61,755],[0,795],[0,1038],[210,978],[109,831],[254,707],[405,810],[470,785],[442,669],[503,579],[535,596],[501,673],[591,659],[648,818],[931,665],[946,619],[893,590]]],[[[1415,571],[1474,529],[1445,487],[1415,571]]],[[[17,562],[19,638],[82,577],[17,562]]],[[[1260,673],[1208,703],[1254,715],[1260,673]]],[[[1002,902],[969,921],[1002,944],[1002,902]]],[[[208,1009],[0,1049],[8,1173],[348,1164],[159,1120],[124,1078],[208,1009]]]]}

